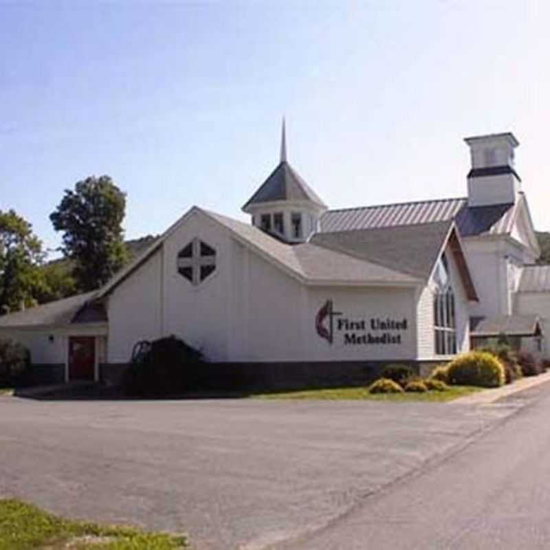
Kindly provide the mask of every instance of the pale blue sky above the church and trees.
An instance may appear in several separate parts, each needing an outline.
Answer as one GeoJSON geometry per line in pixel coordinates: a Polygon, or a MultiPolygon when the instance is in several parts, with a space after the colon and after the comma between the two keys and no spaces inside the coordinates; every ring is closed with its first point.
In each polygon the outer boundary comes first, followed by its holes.
{"type": "Polygon", "coordinates": [[[240,208],[278,161],[331,208],[465,195],[462,138],[513,131],[550,230],[550,8],[514,1],[0,0],[0,209],[45,245],[109,174],[128,238],[240,208]]]}

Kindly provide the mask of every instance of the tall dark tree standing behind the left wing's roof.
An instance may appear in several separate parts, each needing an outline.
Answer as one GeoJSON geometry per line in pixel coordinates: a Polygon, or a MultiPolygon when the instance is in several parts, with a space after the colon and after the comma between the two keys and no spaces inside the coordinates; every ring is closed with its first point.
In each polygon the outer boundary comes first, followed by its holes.
{"type": "Polygon", "coordinates": [[[56,231],[63,231],[65,256],[74,261],[78,290],[86,292],[109,281],[126,263],[122,220],[126,195],[107,176],[78,181],[50,215],[56,231]]]}

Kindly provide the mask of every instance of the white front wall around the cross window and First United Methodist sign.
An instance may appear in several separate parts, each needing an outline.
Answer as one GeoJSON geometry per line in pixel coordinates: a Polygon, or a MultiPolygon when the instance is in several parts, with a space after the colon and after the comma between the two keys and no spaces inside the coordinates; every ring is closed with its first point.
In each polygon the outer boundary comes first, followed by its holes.
{"type": "MultiPolygon", "coordinates": [[[[137,340],[174,334],[212,361],[415,359],[413,288],[307,287],[259,252],[239,243],[216,221],[195,213],[109,299],[109,361],[129,360],[137,340]],[[193,286],[177,272],[177,254],[199,238],[216,250],[216,271],[193,286]],[[162,296],[162,298],[161,298],[162,296]],[[406,319],[401,343],[329,344],[316,333],[327,301],[342,317],[406,319]]],[[[392,331],[391,331],[392,332],[392,331]]],[[[393,331],[395,333],[395,331],[393,331]]],[[[398,332],[399,333],[399,332],[398,332]]]]}

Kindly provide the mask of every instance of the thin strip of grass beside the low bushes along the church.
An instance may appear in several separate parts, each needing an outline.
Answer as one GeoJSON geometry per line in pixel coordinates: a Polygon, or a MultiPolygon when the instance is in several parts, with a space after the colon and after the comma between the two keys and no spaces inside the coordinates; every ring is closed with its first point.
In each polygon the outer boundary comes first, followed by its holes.
{"type": "Polygon", "coordinates": [[[376,393],[372,394],[364,387],[358,388],[325,388],[305,391],[289,391],[284,393],[263,393],[254,395],[261,399],[369,399],[370,401],[452,401],[456,397],[470,395],[482,388],[473,386],[450,386],[449,391],[427,391],[426,393],[376,393]]]}

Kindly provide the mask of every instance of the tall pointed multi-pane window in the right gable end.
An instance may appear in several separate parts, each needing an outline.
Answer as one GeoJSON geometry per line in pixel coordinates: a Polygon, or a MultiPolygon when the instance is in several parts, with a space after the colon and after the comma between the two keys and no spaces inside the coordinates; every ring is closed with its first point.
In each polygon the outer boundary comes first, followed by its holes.
{"type": "Polygon", "coordinates": [[[437,355],[456,353],[456,318],[454,311],[454,293],[450,286],[448,263],[441,256],[434,274],[437,290],[434,294],[434,336],[437,355]]]}

